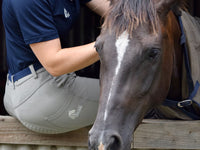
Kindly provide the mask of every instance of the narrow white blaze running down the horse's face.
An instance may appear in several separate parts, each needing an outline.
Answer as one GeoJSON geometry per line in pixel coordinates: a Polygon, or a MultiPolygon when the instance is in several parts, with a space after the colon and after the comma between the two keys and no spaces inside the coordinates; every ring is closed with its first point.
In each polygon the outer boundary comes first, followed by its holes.
{"type": "Polygon", "coordinates": [[[110,103],[110,98],[112,96],[112,91],[113,91],[113,87],[116,86],[115,85],[115,80],[117,79],[117,74],[120,70],[121,67],[121,63],[124,57],[124,54],[126,53],[126,49],[128,47],[128,43],[129,43],[129,34],[124,31],[116,40],[115,42],[115,46],[116,46],[116,52],[117,52],[117,66],[115,68],[115,74],[111,83],[111,88],[109,91],[109,95],[108,95],[108,100],[107,100],[107,104],[106,104],[106,110],[105,110],[105,114],[104,114],[104,121],[107,118],[107,114],[108,114],[108,106],[110,103]]]}

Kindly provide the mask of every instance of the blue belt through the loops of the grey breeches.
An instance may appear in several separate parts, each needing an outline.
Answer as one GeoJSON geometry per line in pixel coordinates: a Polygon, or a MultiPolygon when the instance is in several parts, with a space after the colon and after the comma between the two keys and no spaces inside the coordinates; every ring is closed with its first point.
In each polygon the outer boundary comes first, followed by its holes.
{"type": "Polygon", "coordinates": [[[25,68],[25,69],[23,69],[23,70],[17,72],[16,74],[13,74],[13,75],[8,74],[8,79],[9,79],[11,82],[15,82],[15,81],[17,81],[17,80],[19,80],[19,79],[21,79],[21,78],[23,78],[23,77],[25,77],[25,76],[31,74],[31,73],[32,73],[31,67],[32,67],[35,71],[37,71],[38,69],[42,68],[42,65],[41,65],[40,63],[32,64],[32,65],[30,65],[29,67],[27,67],[27,68],[25,68]]]}

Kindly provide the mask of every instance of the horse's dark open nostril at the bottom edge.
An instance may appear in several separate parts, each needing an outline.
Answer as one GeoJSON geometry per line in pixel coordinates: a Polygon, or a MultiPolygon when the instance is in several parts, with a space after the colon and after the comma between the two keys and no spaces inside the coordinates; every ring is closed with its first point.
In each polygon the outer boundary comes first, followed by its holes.
{"type": "Polygon", "coordinates": [[[108,149],[110,150],[121,150],[122,140],[119,136],[111,136],[110,142],[108,143],[108,149]]]}

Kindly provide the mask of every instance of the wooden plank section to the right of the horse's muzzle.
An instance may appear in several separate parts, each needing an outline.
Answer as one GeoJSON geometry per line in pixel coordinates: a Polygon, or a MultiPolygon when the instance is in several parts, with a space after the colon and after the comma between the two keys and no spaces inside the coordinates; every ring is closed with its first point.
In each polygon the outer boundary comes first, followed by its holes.
{"type": "Polygon", "coordinates": [[[134,135],[136,148],[200,149],[200,121],[144,120],[134,135]]]}

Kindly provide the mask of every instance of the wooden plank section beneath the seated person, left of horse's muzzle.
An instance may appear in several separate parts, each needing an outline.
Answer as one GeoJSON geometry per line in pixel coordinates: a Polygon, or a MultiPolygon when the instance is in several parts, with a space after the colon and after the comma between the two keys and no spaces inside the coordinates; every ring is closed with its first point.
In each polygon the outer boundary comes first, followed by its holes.
{"type": "Polygon", "coordinates": [[[38,134],[26,129],[12,117],[1,116],[0,143],[86,147],[89,129],[90,127],[85,127],[80,130],[57,135],[38,134]]]}

